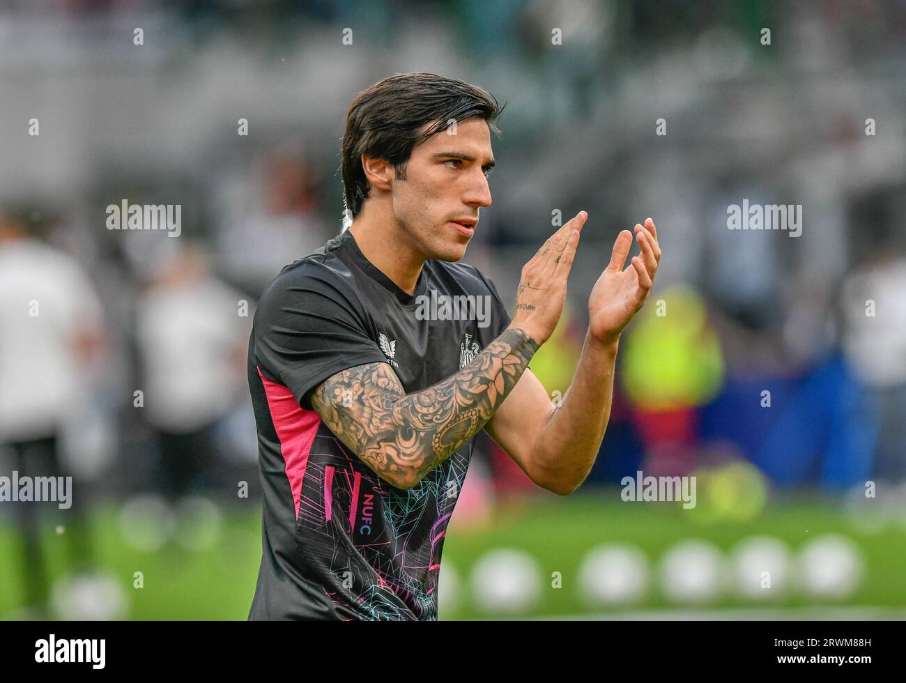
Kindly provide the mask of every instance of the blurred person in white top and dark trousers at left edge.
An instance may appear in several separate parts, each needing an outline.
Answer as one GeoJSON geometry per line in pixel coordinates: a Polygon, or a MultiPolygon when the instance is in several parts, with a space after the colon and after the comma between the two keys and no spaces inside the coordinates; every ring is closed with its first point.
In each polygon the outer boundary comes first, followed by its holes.
{"type": "MultiPolygon", "coordinates": [[[[101,304],[82,266],[37,238],[40,214],[0,210],[0,450],[20,477],[72,476],[61,457],[63,430],[82,403],[82,368],[101,351],[101,304]]],[[[6,467],[4,467],[6,470],[6,467]]],[[[5,476],[9,474],[4,471],[5,476]]],[[[23,544],[27,609],[45,615],[50,569],[41,541],[42,511],[64,524],[72,569],[89,568],[91,549],[81,490],[71,505],[13,505],[23,544]]]]}

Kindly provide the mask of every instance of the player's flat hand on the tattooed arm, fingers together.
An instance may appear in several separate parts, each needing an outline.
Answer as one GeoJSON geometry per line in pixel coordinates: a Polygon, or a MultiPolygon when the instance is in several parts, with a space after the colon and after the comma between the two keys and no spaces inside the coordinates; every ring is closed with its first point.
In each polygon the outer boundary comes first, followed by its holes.
{"type": "Polygon", "coordinates": [[[550,339],[563,313],[566,278],[586,220],[588,214],[580,211],[548,237],[522,268],[516,290],[516,314],[510,327],[522,329],[539,345],[550,339]]]}

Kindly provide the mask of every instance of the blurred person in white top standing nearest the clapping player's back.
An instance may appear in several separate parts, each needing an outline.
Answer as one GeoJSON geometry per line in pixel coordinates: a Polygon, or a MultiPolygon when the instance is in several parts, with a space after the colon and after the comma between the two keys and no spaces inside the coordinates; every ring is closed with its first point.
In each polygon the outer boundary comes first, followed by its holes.
{"type": "Polygon", "coordinates": [[[188,495],[214,475],[212,429],[243,398],[249,308],[211,274],[206,252],[194,244],[163,257],[140,295],[143,410],[156,432],[166,495],[188,495]]]}

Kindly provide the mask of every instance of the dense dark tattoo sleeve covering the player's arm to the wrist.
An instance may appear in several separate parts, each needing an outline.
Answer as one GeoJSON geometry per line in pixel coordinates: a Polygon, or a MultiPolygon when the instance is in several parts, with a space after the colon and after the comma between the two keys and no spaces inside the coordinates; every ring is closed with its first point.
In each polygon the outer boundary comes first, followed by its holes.
{"type": "Polygon", "coordinates": [[[315,387],[312,407],[378,476],[409,488],[485,426],[537,350],[506,330],[455,375],[408,395],[387,363],[359,365],[315,387]]]}

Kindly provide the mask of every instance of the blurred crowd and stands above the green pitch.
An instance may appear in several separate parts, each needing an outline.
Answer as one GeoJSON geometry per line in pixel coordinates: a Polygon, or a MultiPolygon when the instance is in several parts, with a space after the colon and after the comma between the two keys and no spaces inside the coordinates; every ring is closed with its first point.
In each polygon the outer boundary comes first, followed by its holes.
{"type": "MultiPolygon", "coordinates": [[[[904,38],[906,5],[875,2],[6,3],[4,472],[255,491],[255,299],[342,229],[355,94],[433,71],[507,102],[466,257],[505,298],[557,211],[592,216],[532,363],[554,399],[612,239],[657,222],[659,284],[585,487],[738,460],[781,491],[904,481],[904,38]],[[744,198],[802,205],[802,236],[728,230],[744,198]],[[180,205],[181,235],[107,229],[123,199],[180,205]]],[[[489,439],[479,453],[481,491],[531,488],[489,439]]]]}

